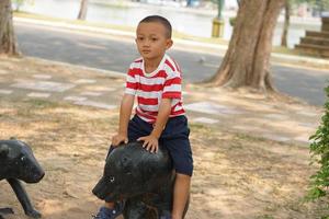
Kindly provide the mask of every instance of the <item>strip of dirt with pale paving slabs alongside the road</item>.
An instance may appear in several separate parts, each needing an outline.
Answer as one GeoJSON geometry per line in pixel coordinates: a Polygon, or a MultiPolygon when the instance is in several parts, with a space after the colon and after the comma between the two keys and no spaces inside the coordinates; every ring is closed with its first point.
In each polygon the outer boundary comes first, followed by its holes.
{"type": "MultiPolygon", "coordinates": [[[[0,58],[0,99],[39,99],[118,112],[124,78],[120,72],[41,59],[0,58]]],[[[185,84],[191,125],[216,126],[283,142],[307,146],[321,108],[260,94],[185,84]]]]}

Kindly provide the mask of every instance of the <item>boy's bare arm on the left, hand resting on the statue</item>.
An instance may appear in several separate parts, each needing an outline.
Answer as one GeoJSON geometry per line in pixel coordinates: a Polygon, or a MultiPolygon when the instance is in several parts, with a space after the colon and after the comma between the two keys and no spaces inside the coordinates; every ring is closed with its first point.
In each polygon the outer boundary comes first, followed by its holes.
{"type": "Polygon", "coordinates": [[[112,146],[118,146],[121,142],[128,142],[128,123],[132,116],[135,96],[132,94],[124,94],[120,107],[118,130],[112,138],[112,146]]]}

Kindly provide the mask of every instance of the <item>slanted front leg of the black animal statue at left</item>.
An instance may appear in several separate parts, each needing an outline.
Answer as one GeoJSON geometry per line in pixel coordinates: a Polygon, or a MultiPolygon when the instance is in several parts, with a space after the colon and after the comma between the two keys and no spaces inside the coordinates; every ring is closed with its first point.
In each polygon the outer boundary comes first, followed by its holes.
{"type": "Polygon", "coordinates": [[[21,203],[24,212],[26,216],[32,218],[41,218],[42,215],[33,208],[32,203],[29,198],[29,195],[23,187],[22,183],[16,178],[7,178],[8,183],[11,185],[12,189],[14,191],[19,201],[21,203]]]}

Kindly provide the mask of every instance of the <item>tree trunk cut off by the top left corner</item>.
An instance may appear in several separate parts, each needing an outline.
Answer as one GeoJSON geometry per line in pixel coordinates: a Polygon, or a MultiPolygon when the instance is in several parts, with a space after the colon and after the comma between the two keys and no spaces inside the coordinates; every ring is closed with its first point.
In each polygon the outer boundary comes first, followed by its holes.
{"type": "Polygon", "coordinates": [[[0,0],[0,54],[20,55],[13,28],[10,0],[0,0]]]}

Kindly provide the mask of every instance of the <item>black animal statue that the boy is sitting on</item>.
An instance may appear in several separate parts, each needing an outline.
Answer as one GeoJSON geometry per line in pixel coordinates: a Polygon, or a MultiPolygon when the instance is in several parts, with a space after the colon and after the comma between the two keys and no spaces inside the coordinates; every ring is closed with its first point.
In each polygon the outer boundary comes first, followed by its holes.
{"type": "Polygon", "coordinates": [[[106,201],[125,200],[125,219],[158,219],[171,212],[174,175],[163,147],[150,153],[141,142],[131,142],[107,154],[103,176],[92,193],[106,201]]]}

